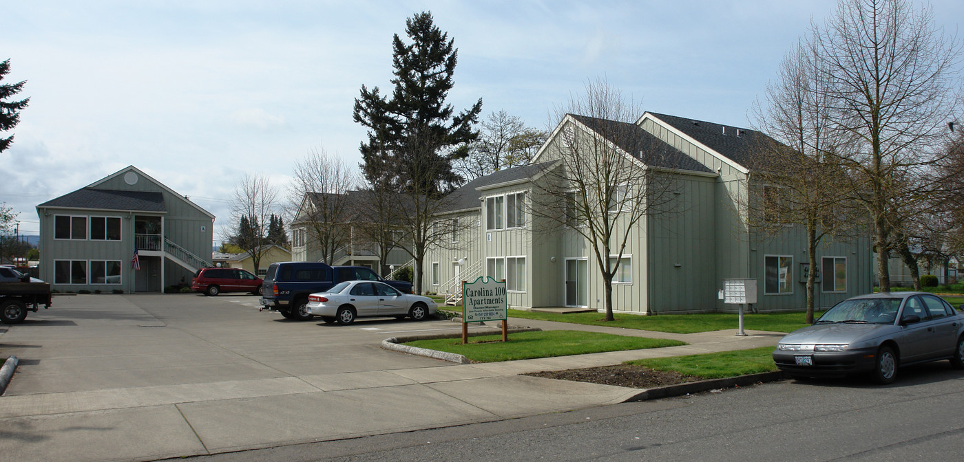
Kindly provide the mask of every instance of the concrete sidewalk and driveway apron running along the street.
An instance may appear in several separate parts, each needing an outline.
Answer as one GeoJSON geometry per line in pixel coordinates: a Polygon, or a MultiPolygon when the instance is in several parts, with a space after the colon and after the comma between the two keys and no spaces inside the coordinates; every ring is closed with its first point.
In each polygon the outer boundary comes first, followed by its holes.
{"type": "MultiPolygon", "coordinates": [[[[510,323],[670,338],[690,345],[6,396],[0,398],[0,459],[154,460],[570,411],[621,402],[640,391],[520,374],[774,346],[782,335],[748,331],[748,337],[737,337],[736,329],[681,335],[549,321],[510,323]]],[[[459,325],[452,328],[457,331],[459,325]]]]}

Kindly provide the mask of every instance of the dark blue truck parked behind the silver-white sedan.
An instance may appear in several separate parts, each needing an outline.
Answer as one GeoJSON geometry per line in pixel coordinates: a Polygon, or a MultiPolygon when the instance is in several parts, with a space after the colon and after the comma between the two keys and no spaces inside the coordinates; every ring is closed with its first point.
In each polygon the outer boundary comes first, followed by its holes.
{"type": "Polygon", "coordinates": [[[325,292],[342,281],[382,281],[405,293],[412,283],[388,281],[365,267],[330,267],[321,262],[273,263],[264,275],[261,310],[277,311],[290,320],[308,321],[308,295],[325,292]]]}

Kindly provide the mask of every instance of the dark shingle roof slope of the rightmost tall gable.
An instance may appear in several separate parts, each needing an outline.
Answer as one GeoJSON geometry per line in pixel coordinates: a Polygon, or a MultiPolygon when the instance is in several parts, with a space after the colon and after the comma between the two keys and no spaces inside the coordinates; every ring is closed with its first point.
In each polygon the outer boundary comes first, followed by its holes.
{"type": "Polygon", "coordinates": [[[771,138],[756,130],[692,118],[650,114],[743,167],[752,166],[754,153],[759,152],[763,143],[774,142],[771,138]]]}

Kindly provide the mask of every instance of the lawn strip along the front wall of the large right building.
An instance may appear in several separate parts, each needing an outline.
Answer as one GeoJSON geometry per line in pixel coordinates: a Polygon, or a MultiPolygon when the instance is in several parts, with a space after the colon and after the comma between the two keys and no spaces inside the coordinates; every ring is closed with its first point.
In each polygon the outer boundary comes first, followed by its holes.
{"type": "MultiPolygon", "coordinates": [[[[739,327],[738,315],[710,313],[703,315],[616,315],[616,321],[604,321],[603,313],[535,313],[531,311],[509,310],[509,316],[526,320],[572,322],[576,324],[605,325],[629,329],[656,330],[677,334],[708,332],[710,330],[736,329],[739,327]]],[[[818,315],[817,315],[818,316],[818,315]]],[[[770,332],[791,332],[805,327],[805,313],[744,314],[743,328],[766,330],[770,332]]]]}

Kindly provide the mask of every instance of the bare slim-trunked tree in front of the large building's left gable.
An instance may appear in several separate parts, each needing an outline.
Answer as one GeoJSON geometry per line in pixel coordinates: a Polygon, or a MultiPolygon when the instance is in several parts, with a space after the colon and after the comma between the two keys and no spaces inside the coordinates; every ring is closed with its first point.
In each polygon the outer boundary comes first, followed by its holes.
{"type": "Polygon", "coordinates": [[[642,218],[672,211],[679,188],[660,169],[677,167],[667,165],[671,148],[634,123],[640,114],[604,80],[587,83],[558,111],[562,140],[540,155],[555,164],[532,179],[532,216],[588,244],[603,276],[606,321],[614,320],[612,281],[631,233],[642,218]]]}

